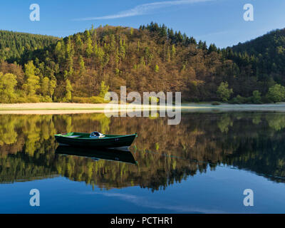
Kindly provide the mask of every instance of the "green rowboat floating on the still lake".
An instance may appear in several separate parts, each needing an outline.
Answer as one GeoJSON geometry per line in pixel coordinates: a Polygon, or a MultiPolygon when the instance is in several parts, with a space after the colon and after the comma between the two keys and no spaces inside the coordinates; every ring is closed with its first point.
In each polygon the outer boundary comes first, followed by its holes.
{"type": "Polygon", "coordinates": [[[103,138],[92,138],[89,133],[65,133],[54,135],[56,141],[63,145],[75,147],[128,147],[132,145],[138,134],[104,135],[103,138]]]}

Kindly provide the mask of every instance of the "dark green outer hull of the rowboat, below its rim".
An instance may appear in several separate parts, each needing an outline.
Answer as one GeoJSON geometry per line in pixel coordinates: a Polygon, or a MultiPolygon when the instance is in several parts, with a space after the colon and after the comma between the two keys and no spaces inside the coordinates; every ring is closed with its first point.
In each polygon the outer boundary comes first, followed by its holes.
{"type": "Polygon", "coordinates": [[[134,135],[118,135],[117,137],[105,138],[68,138],[63,135],[55,135],[56,141],[63,145],[73,147],[109,148],[109,147],[128,147],[132,145],[137,137],[134,135]]]}

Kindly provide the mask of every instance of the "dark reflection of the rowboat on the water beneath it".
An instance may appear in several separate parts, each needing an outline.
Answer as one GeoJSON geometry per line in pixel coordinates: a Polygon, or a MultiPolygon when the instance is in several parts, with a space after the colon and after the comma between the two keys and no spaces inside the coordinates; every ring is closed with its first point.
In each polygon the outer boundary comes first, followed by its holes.
{"type": "Polygon", "coordinates": [[[128,147],[121,148],[100,148],[90,149],[81,147],[71,147],[69,145],[59,145],[56,148],[56,154],[58,155],[73,155],[78,157],[90,157],[93,160],[109,160],[115,162],[125,162],[131,164],[137,164],[138,162],[133,157],[132,152],[128,150],[128,147]]]}

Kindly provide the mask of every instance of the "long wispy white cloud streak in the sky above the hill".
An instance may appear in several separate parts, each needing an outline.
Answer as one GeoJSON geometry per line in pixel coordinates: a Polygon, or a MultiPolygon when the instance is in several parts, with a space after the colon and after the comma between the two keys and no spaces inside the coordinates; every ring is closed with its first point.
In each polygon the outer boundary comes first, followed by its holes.
{"type": "Polygon", "coordinates": [[[198,2],[213,1],[213,0],[180,0],[180,1],[157,1],[150,4],[142,4],[135,6],[133,9],[127,11],[120,11],[118,14],[99,16],[99,17],[88,17],[83,19],[73,19],[73,21],[93,21],[93,20],[104,20],[104,19],[120,19],[129,16],[139,16],[150,14],[156,9],[161,9],[169,6],[180,6],[186,4],[194,4],[198,2]]]}

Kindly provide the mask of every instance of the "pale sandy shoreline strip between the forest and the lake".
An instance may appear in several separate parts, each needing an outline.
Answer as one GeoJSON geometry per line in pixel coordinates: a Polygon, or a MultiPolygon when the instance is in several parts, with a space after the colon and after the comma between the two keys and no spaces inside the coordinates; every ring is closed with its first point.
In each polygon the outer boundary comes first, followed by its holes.
{"type": "MultiPolygon", "coordinates": [[[[174,107],[174,106],[173,106],[174,107]]],[[[211,103],[182,103],[175,107],[183,111],[276,111],[285,112],[285,103],[276,104],[242,104],[232,105],[222,103],[221,105],[212,105],[211,103]]],[[[112,105],[110,103],[90,104],[90,103],[14,103],[0,104],[1,114],[35,114],[35,115],[53,115],[53,114],[76,114],[76,113],[113,113],[120,110],[169,110],[172,106],[159,105],[112,105]]]]}

